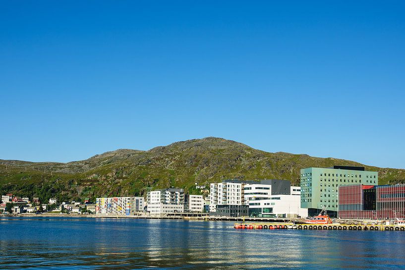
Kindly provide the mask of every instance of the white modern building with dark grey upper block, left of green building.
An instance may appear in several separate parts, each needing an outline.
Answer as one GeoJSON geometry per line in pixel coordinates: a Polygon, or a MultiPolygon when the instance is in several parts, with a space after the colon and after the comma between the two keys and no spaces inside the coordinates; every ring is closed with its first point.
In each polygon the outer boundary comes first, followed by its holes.
{"type": "Polygon", "coordinates": [[[289,180],[261,180],[244,186],[244,201],[252,217],[308,216],[300,206],[300,187],[291,186],[289,180]]]}

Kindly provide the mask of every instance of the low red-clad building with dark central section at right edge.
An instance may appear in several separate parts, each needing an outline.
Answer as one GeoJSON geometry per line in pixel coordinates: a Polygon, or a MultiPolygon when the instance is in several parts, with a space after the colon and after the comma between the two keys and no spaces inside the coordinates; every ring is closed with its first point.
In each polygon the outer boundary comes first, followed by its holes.
{"type": "Polygon", "coordinates": [[[338,215],[341,218],[359,219],[404,218],[405,184],[341,185],[338,215]]]}

